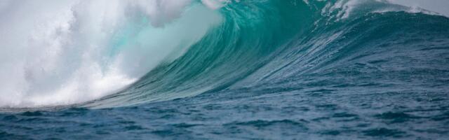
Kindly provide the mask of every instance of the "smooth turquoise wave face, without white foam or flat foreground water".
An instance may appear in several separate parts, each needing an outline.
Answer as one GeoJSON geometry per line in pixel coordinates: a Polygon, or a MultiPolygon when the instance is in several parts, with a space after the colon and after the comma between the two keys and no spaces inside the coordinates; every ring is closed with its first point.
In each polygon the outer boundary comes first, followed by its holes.
{"type": "Polygon", "coordinates": [[[128,106],[267,85],[299,89],[304,76],[347,76],[335,82],[351,84],[368,82],[363,80],[368,76],[407,85],[398,80],[401,74],[388,73],[439,71],[434,66],[445,65],[444,53],[421,50],[444,49],[449,34],[448,18],[407,9],[377,1],[234,1],[220,9],[222,23],[185,55],[84,106],[128,106]],[[435,46],[422,45],[427,41],[435,46]]]}

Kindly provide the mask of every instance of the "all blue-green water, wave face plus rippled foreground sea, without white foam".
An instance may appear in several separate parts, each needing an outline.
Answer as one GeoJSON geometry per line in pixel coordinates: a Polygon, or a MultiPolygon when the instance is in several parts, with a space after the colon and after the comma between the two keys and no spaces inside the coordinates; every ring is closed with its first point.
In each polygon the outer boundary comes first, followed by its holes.
{"type": "Polygon", "coordinates": [[[185,55],[121,92],[1,109],[0,139],[449,138],[449,18],[296,2],[229,3],[185,55]]]}

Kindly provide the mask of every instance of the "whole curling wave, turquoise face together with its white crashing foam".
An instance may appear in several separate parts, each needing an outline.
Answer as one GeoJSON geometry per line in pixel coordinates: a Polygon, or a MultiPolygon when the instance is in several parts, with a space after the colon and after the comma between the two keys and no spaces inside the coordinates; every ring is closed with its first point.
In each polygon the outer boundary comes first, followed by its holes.
{"type": "Polygon", "coordinates": [[[332,79],[408,87],[428,78],[405,82],[401,73],[448,69],[449,19],[386,1],[114,1],[99,10],[100,2],[24,29],[34,32],[25,44],[18,35],[1,41],[26,54],[1,54],[14,61],[0,67],[0,78],[13,79],[1,84],[0,106],[130,106],[332,79]]]}

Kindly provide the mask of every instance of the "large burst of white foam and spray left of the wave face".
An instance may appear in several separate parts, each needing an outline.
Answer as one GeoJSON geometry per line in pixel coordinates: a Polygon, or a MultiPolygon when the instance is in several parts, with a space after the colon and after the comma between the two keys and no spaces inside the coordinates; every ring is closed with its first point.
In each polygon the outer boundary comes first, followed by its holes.
{"type": "Polygon", "coordinates": [[[0,106],[76,104],[126,87],[220,22],[191,3],[1,1],[0,106]]]}

